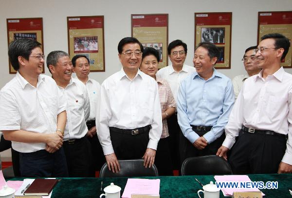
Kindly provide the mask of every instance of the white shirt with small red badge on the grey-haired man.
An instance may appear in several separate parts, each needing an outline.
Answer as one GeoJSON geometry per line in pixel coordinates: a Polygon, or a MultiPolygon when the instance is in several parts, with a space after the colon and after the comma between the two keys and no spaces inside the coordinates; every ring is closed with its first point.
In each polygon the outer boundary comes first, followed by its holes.
{"type": "Polygon", "coordinates": [[[86,86],[78,79],[71,78],[65,87],[59,86],[67,101],[67,123],[64,141],[83,138],[87,132],[86,121],[90,114],[90,101],[86,86]]]}

